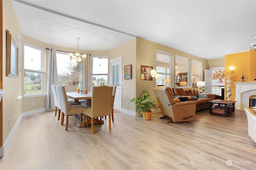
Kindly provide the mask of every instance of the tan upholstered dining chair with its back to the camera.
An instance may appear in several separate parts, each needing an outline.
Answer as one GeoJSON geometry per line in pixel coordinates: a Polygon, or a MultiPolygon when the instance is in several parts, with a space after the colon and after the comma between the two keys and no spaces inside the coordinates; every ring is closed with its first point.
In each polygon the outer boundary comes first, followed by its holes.
{"type": "Polygon", "coordinates": [[[94,86],[92,88],[92,105],[90,108],[84,108],[84,127],[85,117],[86,126],[89,125],[88,117],[91,118],[92,134],[94,134],[94,117],[102,117],[108,115],[108,125],[111,130],[111,110],[112,110],[112,93],[111,86],[94,86]]]}

